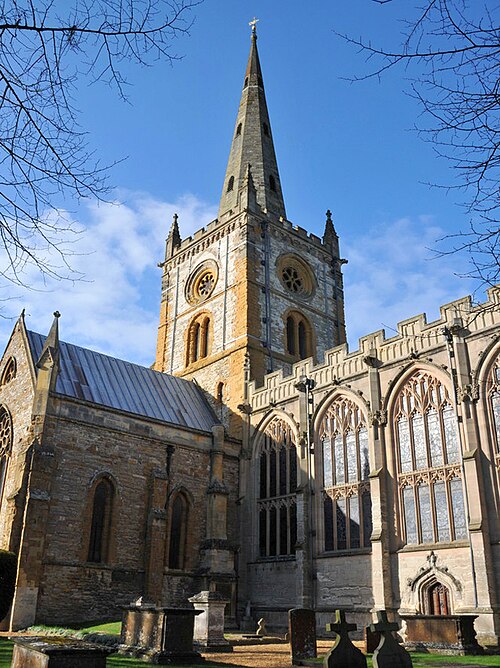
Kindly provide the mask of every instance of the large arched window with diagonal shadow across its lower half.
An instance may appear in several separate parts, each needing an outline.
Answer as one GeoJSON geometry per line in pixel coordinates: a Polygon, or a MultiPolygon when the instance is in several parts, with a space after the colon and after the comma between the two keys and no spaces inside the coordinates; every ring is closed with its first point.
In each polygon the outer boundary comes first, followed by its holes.
{"type": "Polygon", "coordinates": [[[319,428],[323,455],[325,550],[370,546],[368,430],[359,406],[335,399],[319,428]]]}

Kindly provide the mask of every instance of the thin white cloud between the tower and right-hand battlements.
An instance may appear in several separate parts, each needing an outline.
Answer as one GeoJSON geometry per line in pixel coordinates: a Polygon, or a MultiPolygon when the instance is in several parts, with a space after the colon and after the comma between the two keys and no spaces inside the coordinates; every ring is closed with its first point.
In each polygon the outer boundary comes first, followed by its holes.
{"type": "Polygon", "coordinates": [[[352,350],[358,338],[386,328],[395,334],[397,323],[419,313],[428,322],[439,317],[439,307],[468,294],[471,281],[458,278],[457,256],[437,257],[432,248],[444,232],[432,218],[400,218],[373,228],[343,244],[349,258],[344,268],[347,335],[352,350]]]}

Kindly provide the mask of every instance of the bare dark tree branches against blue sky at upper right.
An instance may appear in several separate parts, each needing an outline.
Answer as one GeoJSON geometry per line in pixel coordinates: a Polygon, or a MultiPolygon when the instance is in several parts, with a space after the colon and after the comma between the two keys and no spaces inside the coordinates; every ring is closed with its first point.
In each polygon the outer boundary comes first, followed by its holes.
{"type": "Polygon", "coordinates": [[[427,119],[418,129],[456,171],[452,185],[439,187],[462,191],[468,217],[467,229],[442,240],[440,252],[466,253],[463,274],[493,285],[500,280],[500,7],[492,0],[422,3],[397,49],[340,36],[372,66],[354,80],[395,67],[408,72],[427,119]]]}

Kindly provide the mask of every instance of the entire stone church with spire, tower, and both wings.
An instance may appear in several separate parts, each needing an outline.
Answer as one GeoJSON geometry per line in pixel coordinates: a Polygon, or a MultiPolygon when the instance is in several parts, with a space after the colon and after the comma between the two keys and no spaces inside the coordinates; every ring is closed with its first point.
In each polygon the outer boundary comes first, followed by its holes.
{"type": "Polygon", "coordinates": [[[64,342],[57,312],[47,335],[13,329],[4,625],[212,589],[228,628],[283,631],[294,607],[319,631],[336,608],[474,614],[497,645],[500,290],[350,351],[332,215],[321,238],[287,219],[255,26],[242,83],[218,217],[168,234],[152,367],[64,342]]]}

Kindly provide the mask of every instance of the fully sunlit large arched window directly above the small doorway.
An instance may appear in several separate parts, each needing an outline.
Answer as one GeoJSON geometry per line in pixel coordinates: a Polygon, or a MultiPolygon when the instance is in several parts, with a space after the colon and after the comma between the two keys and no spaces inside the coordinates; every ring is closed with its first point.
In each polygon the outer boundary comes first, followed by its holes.
{"type": "Polygon", "coordinates": [[[417,371],[399,391],[393,416],[406,543],[467,538],[459,437],[448,390],[417,371]]]}

